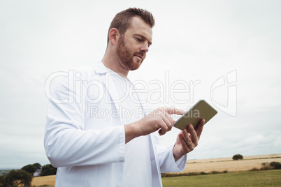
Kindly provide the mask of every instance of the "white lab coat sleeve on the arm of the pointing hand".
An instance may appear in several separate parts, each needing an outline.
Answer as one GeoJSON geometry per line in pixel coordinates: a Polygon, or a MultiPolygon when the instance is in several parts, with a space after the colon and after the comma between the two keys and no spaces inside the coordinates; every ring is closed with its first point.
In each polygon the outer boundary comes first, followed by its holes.
{"type": "MultiPolygon", "coordinates": [[[[86,91],[84,88],[81,93],[86,91]]],[[[72,99],[81,97],[81,93],[75,92],[69,77],[59,78],[52,86],[44,137],[50,163],[66,167],[124,162],[124,126],[84,130],[85,102],[72,99]]]]}

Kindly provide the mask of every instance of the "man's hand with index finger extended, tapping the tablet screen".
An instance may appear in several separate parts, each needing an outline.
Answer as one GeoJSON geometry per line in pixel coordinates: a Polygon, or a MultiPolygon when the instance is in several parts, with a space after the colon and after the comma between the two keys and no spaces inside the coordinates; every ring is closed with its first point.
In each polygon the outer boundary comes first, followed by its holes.
{"type": "Polygon", "coordinates": [[[135,137],[141,135],[149,135],[159,130],[159,135],[164,135],[171,130],[175,121],[171,117],[171,114],[184,114],[183,110],[176,109],[174,107],[159,107],[154,110],[140,121],[136,121],[133,124],[124,126],[126,143],[135,137]]]}

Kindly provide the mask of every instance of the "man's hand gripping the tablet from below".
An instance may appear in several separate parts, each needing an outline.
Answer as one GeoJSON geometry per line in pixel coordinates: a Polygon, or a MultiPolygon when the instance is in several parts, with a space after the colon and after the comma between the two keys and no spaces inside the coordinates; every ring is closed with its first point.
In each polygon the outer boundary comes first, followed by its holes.
{"type": "Polygon", "coordinates": [[[192,151],[198,145],[204,123],[205,119],[202,119],[199,122],[199,126],[197,126],[196,130],[194,130],[192,125],[189,125],[187,129],[182,130],[182,132],[178,134],[175,147],[173,147],[173,156],[175,161],[192,151]]]}

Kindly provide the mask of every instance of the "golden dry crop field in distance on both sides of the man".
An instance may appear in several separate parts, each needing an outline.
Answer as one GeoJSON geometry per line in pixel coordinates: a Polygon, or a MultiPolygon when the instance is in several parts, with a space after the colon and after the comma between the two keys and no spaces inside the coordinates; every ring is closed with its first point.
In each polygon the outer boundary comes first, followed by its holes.
{"type": "MultiPolygon", "coordinates": [[[[203,160],[187,160],[187,167],[183,172],[243,172],[253,167],[261,168],[261,163],[281,163],[281,154],[244,156],[243,160],[232,160],[232,158],[212,158],[203,160]]],[[[55,186],[55,175],[45,177],[34,177],[31,186],[55,186]]]]}

